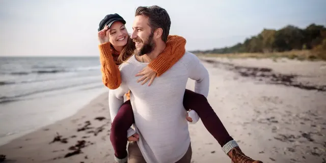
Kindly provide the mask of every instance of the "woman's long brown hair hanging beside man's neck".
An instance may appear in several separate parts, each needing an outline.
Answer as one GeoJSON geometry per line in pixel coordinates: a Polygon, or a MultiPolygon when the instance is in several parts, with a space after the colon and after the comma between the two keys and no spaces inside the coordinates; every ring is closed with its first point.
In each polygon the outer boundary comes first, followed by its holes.
{"type": "Polygon", "coordinates": [[[128,35],[127,44],[121,50],[121,52],[119,54],[119,57],[118,57],[118,59],[116,61],[116,64],[120,65],[123,62],[127,61],[133,55],[133,51],[134,51],[135,48],[136,47],[135,47],[134,42],[130,38],[130,35],[128,35]]]}

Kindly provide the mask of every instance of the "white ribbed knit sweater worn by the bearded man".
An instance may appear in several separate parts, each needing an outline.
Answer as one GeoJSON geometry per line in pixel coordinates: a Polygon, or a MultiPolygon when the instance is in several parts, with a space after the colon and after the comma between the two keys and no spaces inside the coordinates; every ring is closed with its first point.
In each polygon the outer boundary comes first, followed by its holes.
{"type": "MultiPolygon", "coordinates": [[[[146,162],[176,162],[183,157],[190,144],[183,107],[187,80],[196,80],[195,92],[207,97],[208,71],[193,53],[186,52],[148,87],[137,83],[139,77],[135,77],[147,65],[148,63],[139,62],[132,56],[119,66],[122,83],[118,89],[110,90],[109,93],[111,119],[117,115],[124,94],[130,90],[134,127],[140,135],[137,143],[146,162]]],[[[128,135],[132,133],[130,128],[128,135]]]]}

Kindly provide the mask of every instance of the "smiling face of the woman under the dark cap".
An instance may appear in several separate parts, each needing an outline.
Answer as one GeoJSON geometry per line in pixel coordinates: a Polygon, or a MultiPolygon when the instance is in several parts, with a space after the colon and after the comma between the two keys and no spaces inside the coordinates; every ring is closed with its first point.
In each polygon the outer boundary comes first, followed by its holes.
{"type": "Polygon", "coordinates": [[[110,43],[113,46],[125,46],[128,40],[128,32],[124,24],[120,21],[114,22],[110,26],[110,43]]]}

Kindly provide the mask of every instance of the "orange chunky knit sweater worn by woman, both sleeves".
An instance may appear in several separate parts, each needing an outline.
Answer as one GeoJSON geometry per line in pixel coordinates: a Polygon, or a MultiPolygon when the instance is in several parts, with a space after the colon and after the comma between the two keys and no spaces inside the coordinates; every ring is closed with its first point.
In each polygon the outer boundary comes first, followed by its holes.
{"type": "MultiPolygon", "coordinates": [[[[160,76],[170,69],[185,53],[186,40],[183,37],[168,36],[167,46],[158,57],[150,62],[148,66],[160,76]]],[[[119,54],[113,52],[110,42],[98,45],[100,51],[100,62],[102,82],[109,89],[117,89],[121,84],[121,76],[115,61],[119,54]]]]}

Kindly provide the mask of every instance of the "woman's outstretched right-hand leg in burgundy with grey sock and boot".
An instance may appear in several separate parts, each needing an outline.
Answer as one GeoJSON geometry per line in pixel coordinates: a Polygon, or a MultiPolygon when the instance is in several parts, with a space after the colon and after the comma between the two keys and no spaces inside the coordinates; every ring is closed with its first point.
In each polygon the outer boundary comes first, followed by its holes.
{"type": "Polygon", "coordinates": [[[185,90],[183,97],[185,110],[192,109],[197,112],[204,126],[210,134],[219,142],[223,151],[232,159],[233,162],[261,163],[246,156],[238,147],[237,143],[229,135],[220,118],[202,94],[185,90]]]}

